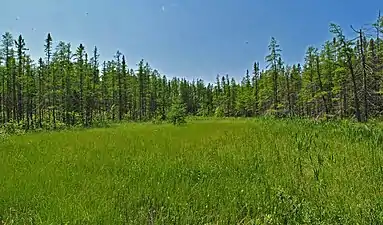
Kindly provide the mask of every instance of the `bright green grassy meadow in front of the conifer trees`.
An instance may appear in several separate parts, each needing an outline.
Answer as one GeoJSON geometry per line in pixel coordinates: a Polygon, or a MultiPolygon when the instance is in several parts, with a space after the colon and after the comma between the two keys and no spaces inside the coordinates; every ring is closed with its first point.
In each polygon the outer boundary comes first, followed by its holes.
{"type": "Polygon", "coordinates": [[[378,125],[195,120],[0,141],[0,224],[383,223],[378,125]]]}

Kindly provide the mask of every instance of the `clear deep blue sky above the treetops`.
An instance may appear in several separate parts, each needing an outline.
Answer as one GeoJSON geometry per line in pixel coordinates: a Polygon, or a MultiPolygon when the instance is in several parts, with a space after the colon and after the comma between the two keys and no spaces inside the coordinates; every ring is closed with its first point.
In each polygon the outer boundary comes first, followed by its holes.
{"type": "Polygon", "coordinates": [[[271,36],[287,63],[308,45],[331,38],[329,23],[350,33],[373,22],[382,0],[9,0],[1,3],[0,32],[22,34],[30,54],[43,54],[48,32],[57,43],[97,45],[102,59],[117,50],[128,65],[144,58],[167,76],[214,81],[264,66],[271,36]],[[246,44],[246,42],[248,43],[246,44]]]}

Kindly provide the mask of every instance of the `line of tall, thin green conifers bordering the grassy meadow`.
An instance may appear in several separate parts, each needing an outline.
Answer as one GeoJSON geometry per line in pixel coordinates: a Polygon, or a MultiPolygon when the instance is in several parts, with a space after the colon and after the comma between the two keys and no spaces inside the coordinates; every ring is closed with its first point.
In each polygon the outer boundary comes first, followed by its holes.
{"type": "Polygon", "coordinates": [[[169,79],[141,60],[128,68],[117,51],[100,62],[97,47],[53,46],[34,61],[22,35],[2,35],[0,123],[26,130],[90,127],[105,121],[166,120],[172,107],[187,115],[251,117],[340,117],[367,121],[383,112],[383,19],[347,38],[331,24],[333,39],[310,46],[301,64],[287,65],[273,37],[267,67],[255,62],[238,82],[217,75],[216,82],[169,79]],[[372,30],[372,31],[371,31],[372,30]]]}

